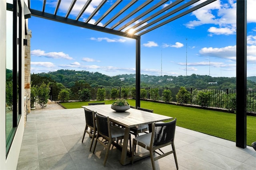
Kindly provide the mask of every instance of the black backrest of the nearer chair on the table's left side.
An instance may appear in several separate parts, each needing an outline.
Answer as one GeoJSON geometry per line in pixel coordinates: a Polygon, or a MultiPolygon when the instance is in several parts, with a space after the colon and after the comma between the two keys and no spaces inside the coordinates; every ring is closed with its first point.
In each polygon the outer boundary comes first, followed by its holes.
{"type": "Polygon", "coordinates": [[[100,135],[104,135],[106,137],[111,137],[109,117],[99,115],[96,112],[96,119],[97,119],[98,133],[100,133],[100,135]]]}

